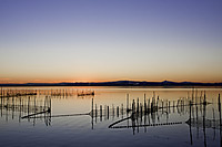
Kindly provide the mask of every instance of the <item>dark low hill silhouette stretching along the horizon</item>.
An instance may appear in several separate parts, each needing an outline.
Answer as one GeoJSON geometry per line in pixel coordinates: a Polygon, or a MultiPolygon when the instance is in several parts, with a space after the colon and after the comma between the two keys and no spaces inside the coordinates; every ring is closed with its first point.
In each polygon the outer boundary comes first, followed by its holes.
{"type": "Polygon", "coordinates": [[[199,82],[147,82],[147,81],[114,81],[114,82],[75,82],[75,83],[10,83],[0,86],[222,86],[222,83],[199,82]]]}

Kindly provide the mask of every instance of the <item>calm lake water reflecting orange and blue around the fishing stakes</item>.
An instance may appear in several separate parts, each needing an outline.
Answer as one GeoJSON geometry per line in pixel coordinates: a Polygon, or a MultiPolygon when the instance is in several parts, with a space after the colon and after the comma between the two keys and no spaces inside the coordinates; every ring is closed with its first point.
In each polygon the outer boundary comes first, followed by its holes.
{"type": "MultiPolygon", "coordinates": [[[[17,90],[22,88],[26,87],[17,87],[17,90]]],[[[1,98],[1,147],[221,146],[218,97],[222,88],[194,91],[192,88],[123,87],[29,88],[37,90],[38,94],[1,98]],[[78,93],[82,91],[88,93],[89,90],[94,91],[95,95],[78,96],[78,93]],[[204,101],[204,91],[209,104],[199,105],[204,101]],[[59,95],[58,93],[61,92],[67,95],[59,95]],[[155,97],[159,109],[144,114],[144,105],[148,106],[152,97],[155,97]],[[135,111],[139,109],[139,113],[132,118],[130,117],[132,112],[128,112],[127,107],[132,109],[133,99],[135,111]],[[189,101],[196,105],[190,106],[189,101]],[[21,118],[28,114],[42,112],[44,106],[50,106],[50,113],[21,118]],[[117,124],[113,124],[115,122],[117,124]],[[111,124],[113,125],[109,128],[111,124]]],[[[11,87],[11,90],[14,88],[11,87]]]]}

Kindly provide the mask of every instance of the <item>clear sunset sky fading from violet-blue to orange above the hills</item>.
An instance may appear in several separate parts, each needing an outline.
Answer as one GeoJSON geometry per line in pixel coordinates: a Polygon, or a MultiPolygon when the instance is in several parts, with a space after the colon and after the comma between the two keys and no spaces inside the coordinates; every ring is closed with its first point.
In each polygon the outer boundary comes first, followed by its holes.
{"type": "Polygon", "coordinates": [[[0,0],[0,83],[222,82],[221,0],[0,0]]]}

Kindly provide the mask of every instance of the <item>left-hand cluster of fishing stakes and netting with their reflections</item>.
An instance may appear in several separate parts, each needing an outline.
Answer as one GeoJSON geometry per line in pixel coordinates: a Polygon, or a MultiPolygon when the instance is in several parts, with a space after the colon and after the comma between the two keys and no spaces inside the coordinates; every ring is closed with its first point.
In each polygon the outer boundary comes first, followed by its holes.
{"type": "Polygon", "coordinates": [[[36,125],[37,115],[41,115],[47,126],[51,124],[51,98],[49,96],[37,98],[36,94],[34,96],[30,96],[30,94],[1,95],[0,109],[1,117],[6,116],[6,122],[8,122],[10,116],[12,119],[18,117],[19,123],[24,118],[28,122],[33,118],[32,122],[36,125]]]}

